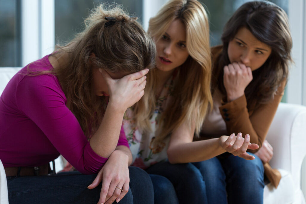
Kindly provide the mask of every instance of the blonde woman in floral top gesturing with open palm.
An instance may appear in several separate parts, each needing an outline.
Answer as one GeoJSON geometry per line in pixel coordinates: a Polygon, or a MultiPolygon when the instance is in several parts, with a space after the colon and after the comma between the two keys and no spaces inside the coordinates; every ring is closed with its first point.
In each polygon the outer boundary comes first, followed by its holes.
{"type": "MultiPolygon", "coordinates": [[[[156,69],[147,74],[144,97],[123,122],[133,165],[168,178],[180,203],[207,203],[203,177],[190,162],[226,151],[253,159],[246,150],[258,145],[241,133],[192,142],[212,103],[209,23],[201,3],[170,0],[150,19],[148,33],[156,43],[156,69]]],[[[155,203],[158,199],[155,195],[155,203]]]]}

